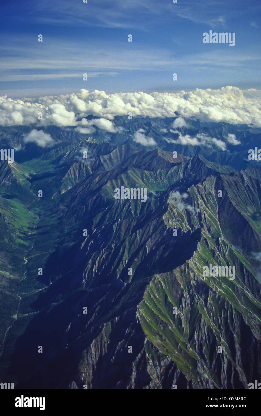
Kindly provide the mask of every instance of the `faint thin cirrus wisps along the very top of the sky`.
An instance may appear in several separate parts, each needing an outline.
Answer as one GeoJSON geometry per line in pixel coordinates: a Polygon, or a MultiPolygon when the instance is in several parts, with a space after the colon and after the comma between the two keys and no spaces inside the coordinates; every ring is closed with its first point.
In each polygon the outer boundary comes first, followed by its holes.
{"type": "MultiPolygon", "coordinates": [[[[236,7],[234,2],[227,0],[183,0],[179,4],[163,0],[99,0],[99,2],[74,2],[71,0],[35,1],[27,0],[25,4],[19,4],[10,0],[8,7],[17,17],[35,22],[53,25],[75,26],[99,26],[112,28],[141,28],[146,30],[153,21],[177,19],[190,20],[194,23],[208,25],[225,25],[226,21],[242,13],[255,13],[259,9],[258,2],[251,5],[251,10],[246,8],[244,0],[238,0],[236,7]],[[21,10],[24,13],[21,15],[21,10]],[[226,15],[224,15],[224,10],[226,15]],[[149,19],[148,19],[149,17],[149,19]]],[[[2,5],[4,12],[7,6],[2,5]]],[[[0,10],[1,10],[0,9],[0,10]]]]}

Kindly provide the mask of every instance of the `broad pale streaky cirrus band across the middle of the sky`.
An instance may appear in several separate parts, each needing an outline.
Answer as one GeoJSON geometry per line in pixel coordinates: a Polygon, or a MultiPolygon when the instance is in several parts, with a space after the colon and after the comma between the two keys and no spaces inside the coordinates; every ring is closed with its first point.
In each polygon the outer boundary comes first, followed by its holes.
{"type": "Polygon", "coordinates": [[[126,47],[126,42],[100,42],[70,40],[61,45],[59,38],[44,37],[44,42],[37,42],[31,37],[17,39],[13,36],[3,38],[0,54],[0,80],[36,80],[82,77],[85,71],[90,77],[117,75],[120,70],[171,72],[173,67],[197,71],[204,67],[249,67],[261,64],[261,57],[255,53],[235,52],[229,50],[210,50],[201,53],[178,54],[164,48],[147,45],[133,49],[126,47]],[[85,57],[84,51],[88,51],[85,57]],[[155,59],[157,56],[157,59],[155,59]],[[102,70],[101,70],[102,69],[102,70]],[[31,73],[34,71],[34,73],[31,73]],[[46,72],[49,73],[46,73],[46,72]]]}

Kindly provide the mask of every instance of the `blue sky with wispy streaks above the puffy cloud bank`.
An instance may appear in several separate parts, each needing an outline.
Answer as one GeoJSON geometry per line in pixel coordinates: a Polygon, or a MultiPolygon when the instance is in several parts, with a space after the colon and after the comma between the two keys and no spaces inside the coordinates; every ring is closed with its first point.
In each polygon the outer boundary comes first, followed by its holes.
{"type": "Polygon", "coordinates": [[[0,13],[1,95],[260,89],[260,0],[11,0],[0,13]],[[235,46],[204,44],[209,30],[235,46]]]}

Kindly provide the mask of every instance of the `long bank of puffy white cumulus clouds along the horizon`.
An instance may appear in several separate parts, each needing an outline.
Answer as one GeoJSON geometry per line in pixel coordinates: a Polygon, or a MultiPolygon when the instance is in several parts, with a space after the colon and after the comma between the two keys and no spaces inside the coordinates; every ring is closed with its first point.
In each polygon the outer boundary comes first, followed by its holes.
{"type": "MultiPolygon", "coordinates": [[[[261,92],[256,89],[241,91],[237,87],[152,94],[106,94],[104,91],[81,89],[78,94],[28,98],[25,101],[0,97],[0,125],[3,126],[36,122],[45,126],[81,126],[82,121],[77,121],[77,118],[91,114],[112,121],[114,116],[127,116],[129,112],[132,116],[174,117],[175,111],[180,114],[174,121],[175,129],[182,127],[183,117],[261,127],[261,92]],[[38,120],[39,112],[42,120],[38,120]]],[[[104,121],[100,121],[100,126],[97,123],[94,122],[99,128],[105,126],[104,121]]],[[[113,130],[115,127],[107,124],[108,128],[113,130]]]]}

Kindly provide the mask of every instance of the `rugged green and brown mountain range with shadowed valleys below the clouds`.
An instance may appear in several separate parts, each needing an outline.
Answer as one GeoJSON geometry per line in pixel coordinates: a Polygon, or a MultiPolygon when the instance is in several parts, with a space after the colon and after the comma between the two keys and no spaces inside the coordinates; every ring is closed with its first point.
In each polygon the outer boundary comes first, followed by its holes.
{"type": "Polygon", "coordinates": [[[261,381],[261,171],[247,161],[260,133],[194,121],[183,135],[235,134],[241,145],[184,146],[160,133],[172,121],[118,117],[121,133],[92,139],[49,127],[49,148],[24,146],[29,127],[1,130],[1,148],[17,149],[0,161],[1,379],[28,389],[261,381]],[[137,146],[137,129],[157,146],[137,146]],[[146,188],[147,200],[115,199],[121,186],[146,188]],[[210,265],[234,267],[234,279],[204,273],[210,265]]]}

